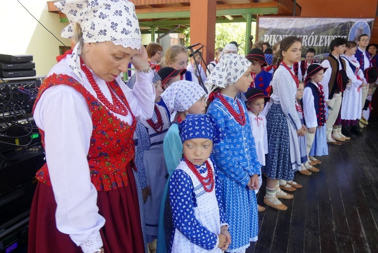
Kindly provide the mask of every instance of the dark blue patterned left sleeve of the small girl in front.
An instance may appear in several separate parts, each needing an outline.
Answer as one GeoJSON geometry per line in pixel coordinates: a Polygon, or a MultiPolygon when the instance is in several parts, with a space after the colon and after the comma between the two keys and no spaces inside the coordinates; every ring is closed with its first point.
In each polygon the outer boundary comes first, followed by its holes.
{"type": "Polygon", "coordinates": [[[218,247],[218,236],[198,222],[194,211],[194,196],[194,187],[188,174],[181,169],[173,171],[169,180],[173,226],[191,243],[210,251],[218,247]]]}

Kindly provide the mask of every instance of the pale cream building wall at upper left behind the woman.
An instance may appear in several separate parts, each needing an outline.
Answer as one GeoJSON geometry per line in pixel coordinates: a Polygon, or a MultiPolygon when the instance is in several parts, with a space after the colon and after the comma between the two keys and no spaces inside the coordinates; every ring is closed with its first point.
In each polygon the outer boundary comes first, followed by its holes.
{"type": "MultiPolygon", "coordinates": [[[[69,39],[60,37],[67,23],[60,23],[59,15],[47,11],[46,0],[22,0],[21,3],[60,41],[71,46],[69,39]]],[[[56,63],[59,46],[63,45],[18,1],[0,0],[0,10],[0,53],[33,54],[37,75],[46,75],[56,63]]]]}

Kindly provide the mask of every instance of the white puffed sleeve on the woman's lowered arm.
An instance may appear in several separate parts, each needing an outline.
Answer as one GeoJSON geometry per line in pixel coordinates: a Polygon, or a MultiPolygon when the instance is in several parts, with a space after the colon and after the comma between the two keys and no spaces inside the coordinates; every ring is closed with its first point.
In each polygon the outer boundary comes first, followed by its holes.
{"type": "Polygon", "coordinates": [[[46,162],[57,204],[57,229],[68,234],[84,253],[102,247],[97,191],[90,181],[87,154],[91,114],[84,97],[66,85],[47,89],[37,102],[34,118],[44,131],[46,162]]]}

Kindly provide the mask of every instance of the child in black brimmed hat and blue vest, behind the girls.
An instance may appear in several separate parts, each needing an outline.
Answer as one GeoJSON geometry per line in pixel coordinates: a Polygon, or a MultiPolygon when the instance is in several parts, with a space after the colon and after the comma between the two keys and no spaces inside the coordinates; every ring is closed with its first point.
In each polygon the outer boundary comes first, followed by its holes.
{"type": "Polygon", "coordinates": [[[251,83],[251,88],[262,90],[264,95],[268,96],[269,94],[266,89],[269,87],[273,75],[263,69],[263,67],[268,65],[265,61],[264,53],[260,49],[252,49],[247,54],[246,58],[252,63],[251,75],[253,81],[251,83]]]}

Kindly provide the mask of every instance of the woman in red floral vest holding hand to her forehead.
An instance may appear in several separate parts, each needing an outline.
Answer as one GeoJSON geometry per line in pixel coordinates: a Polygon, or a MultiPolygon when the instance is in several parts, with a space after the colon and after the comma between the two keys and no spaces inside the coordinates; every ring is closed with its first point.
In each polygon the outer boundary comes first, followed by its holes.
{"type": "Polygon", "coordinates": [[[127,0],[55,5],[78,43],[51,69],[35,103],[46,164],[36,175],[28,252],[143,253],[133,132],[136,119],[151,118],[155,90],[135,7],[127,0]],[[120,78],[129,61],[133,90],[120,78]]]}

